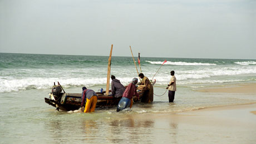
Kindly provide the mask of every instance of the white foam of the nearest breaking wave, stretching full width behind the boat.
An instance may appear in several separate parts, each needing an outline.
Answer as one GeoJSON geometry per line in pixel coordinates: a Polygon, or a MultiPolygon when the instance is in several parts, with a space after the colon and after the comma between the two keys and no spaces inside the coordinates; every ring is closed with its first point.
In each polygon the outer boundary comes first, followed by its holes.
{"type": "MultiPolygon", "coordinates": [[[[239,81],[247,81],[244,79],[231,78],[229,80],[216,80],[211,79],[213,76],[232,76],[241,74],[255,74],[256,67],[248,68],[221,68],[221,69],[200,69],[200,70],[181,70],[176,71],[175,76],[178,84],[204,84],[204,83],[232,83],[239,81]],[[206,79],[205,79],[206,78],[206,79]]],[[[106,78],[68,78],[63,76],[62,78],[0,78],[0,92],[10,92],[27,89],[51,89],[53,82],[59,81],[64,88],[70,88],[72,86],[95,86],[105,85],[106,78]]],[[[151,79],[150,76],[148,76],[151,79]]],[[[123,85],[131,83],[130,77],[117,78],[123,85]]],[[[169,83],[170,75],[161,74],[154,77],[156,84],[169,83]]],[[[253,79],[249,79],[253,80],[253,79]]]]}

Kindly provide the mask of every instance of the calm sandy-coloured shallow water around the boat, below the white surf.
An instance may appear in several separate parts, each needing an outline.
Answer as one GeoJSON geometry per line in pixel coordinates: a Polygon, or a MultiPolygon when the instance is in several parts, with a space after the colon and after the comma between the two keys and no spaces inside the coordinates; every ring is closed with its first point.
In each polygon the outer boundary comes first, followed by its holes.
{"type": "MultiPolygon", "coordinates": [[[[155,93],[164,91],[155,88],[155,93]]],[[[171,115],[204,107],[256,102],[255,95],[250,94],[210,94],[180,87],[174,103],[168,102],[166,93],[155,96],[152,104],[134,104],[131,110],[116,112],[116,107],[97,108],[92,114],[83,114],[56,111],[44,102],[48,92],[34,89],[0,93],[0,143],[157,143],[160,140],[180,143],[184,140],[177,138],[185,136],[179,134],[182,129],[178,124],[171,120],[140,120],[137,116],[171,115]]],[[[186,138],[193,139],[193,135],[190,133],[186,138]]]]}

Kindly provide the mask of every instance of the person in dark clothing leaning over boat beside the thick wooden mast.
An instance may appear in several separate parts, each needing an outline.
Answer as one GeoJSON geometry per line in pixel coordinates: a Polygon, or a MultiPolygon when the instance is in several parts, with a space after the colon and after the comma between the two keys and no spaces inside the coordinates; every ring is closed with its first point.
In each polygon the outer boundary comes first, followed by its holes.
{"type": "Polygon", "coordinates": [[[120,83],[120,80],[117,80],[115,75],[111,75],[111,94],[114,97],[120,97],[125,92],[125,86],[120,83]]]}

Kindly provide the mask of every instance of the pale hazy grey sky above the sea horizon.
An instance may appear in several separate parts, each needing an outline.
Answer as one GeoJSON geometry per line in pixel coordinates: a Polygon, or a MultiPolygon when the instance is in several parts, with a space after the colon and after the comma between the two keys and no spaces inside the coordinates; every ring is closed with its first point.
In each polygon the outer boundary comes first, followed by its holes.
{"type": "Polygon", "coordinates": [[[256,59],[256,1],[0,0],[0,53],[256,59]]]}

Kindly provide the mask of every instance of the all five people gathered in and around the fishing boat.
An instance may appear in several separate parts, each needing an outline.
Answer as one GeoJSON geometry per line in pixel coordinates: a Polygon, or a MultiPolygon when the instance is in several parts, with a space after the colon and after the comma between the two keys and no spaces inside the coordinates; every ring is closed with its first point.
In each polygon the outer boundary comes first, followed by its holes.
{"type": "MultiPolygon", "coordinates": [[[[171,80],[168,84],[168,87],[166,89],[169,90],[168,97],[169,102],[174,101],[174,95],[176,91],[176,78],[174,76],[174,71],[170,72],[171,74],[171,80]]],[[[125,88],[124,85],[120,83],[120,80],[117,80],[114,75],[111,75],[111,95],[114,97],[121,97],[121,100],[119,101],[119,104],[117,105],[116,111],[120,111],[123,109],[126,109],[126,107],[132,107],[133,99],[132,97],[135,95],[138,100],[141,100],[141,102],[152,102],[154,100],[154,89],[150,82],[150,80],[144,76],[144,74],[140,73],[139,77],[141,78],[140,85],[143,85],[144,87],[142,90],[144,90],[144,95],[139,97],[139,94],[137,93],[137,86],[138,83],[137,78],[133,78],[131,83],[125,88]]],[[[81,111],[83,112],[93,112],[95,111],[96,103],[97,103],[97,94],[95,91],[91,89],[87,89],[86,87],[82,88],[82,101],[81,101],[81,111]]]]}

